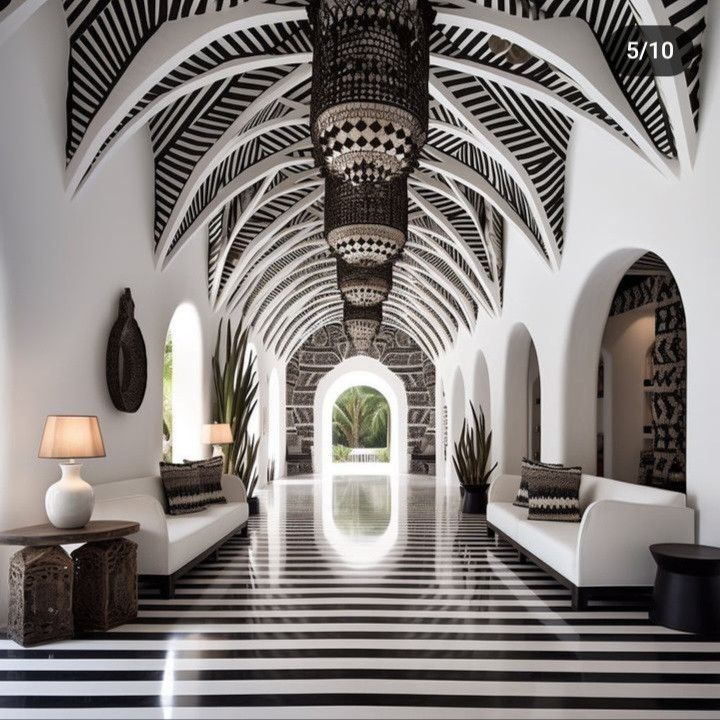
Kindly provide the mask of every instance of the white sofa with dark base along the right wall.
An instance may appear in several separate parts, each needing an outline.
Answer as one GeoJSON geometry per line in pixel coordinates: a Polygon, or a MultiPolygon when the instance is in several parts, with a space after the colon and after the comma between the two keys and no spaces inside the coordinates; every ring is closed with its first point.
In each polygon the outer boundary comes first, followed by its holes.
{"type": "Polygon", "coordinates": [[[572,592],[572,605],[593,596],[649,588],[655,563],[649,546],[695,541],[695,513],[685,495],[595,475],[580,481],[579,523],[528,520],[513,500],[519,475],[499,475],[488,490],[488,534],[497,533],[572,592]]]}

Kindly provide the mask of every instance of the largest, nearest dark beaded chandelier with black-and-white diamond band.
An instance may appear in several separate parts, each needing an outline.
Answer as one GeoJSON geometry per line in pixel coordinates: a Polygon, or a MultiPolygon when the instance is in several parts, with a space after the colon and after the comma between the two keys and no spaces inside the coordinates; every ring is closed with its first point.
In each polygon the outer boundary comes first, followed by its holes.
{"type": "Polygon", "coordinates": [[[407,175],[427,139],[429,0],[310,0],[310,130],[323,171],[407,175]]]}

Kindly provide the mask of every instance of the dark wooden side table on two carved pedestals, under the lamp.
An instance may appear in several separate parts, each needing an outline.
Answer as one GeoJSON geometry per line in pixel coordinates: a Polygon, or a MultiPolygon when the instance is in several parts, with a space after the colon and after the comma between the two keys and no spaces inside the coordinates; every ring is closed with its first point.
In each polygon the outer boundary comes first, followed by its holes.
{"type": "Polygon", "coordinates": [[[8,637],[28,646],[108,630],[137,616],[137,546],[125,535],[140,525],[98,520],[76,530],[33,525],[0,533],[0,545],[24,545],[10,561],[8,637]],[[60,547],[86,543],[72,558],[60,547]]]}

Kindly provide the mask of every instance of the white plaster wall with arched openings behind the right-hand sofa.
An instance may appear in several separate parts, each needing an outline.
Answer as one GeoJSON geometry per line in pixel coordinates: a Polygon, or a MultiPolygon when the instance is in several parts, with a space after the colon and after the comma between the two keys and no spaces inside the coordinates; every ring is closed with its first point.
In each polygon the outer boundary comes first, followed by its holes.
{"type": "MultiPolygon", "coordinates": [[[[673,272],[688,324],[688,496],[698,509],[698,537],[720,544],[720,480],[716,464],[717,358],[720,354],[720,3],[710,3],[703,101],[694,169],[677,180],[660,176],[610,135],[588,123],[573,131],[567,177],[565,250],[551,272],[509,230],[505,305],[460,333],[440,359],[452,387],[456,368],[468,376],[481,349],[488,362],[500,470],[517,465],[519,428],[502,400],[516,378],[508,362],[511,333],[522,323],[537,348],[542,379],[542,456],[595,466],[596,378],[603,328],[625,270],[656,252],[673,272]],[[512,435],[512,437],[509,437],[512,435]],[[508,452],[511,450],[512,452],[508,452]]],[[[518,343],[520,344],[520,343],[518,343]]],[[[453,410],[450,410],[451,416],[453,410]]]]}

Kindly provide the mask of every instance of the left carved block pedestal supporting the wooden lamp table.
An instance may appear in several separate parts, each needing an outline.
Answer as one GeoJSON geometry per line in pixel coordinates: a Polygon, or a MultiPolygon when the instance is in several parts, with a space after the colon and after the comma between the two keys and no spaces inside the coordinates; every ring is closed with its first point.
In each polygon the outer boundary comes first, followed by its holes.
{"type": "Polygon", "coordinates": [[[27,547],[10,561],[8,637],[19,645],[73,636],[73,569],[61,547],[27,547]]]}

